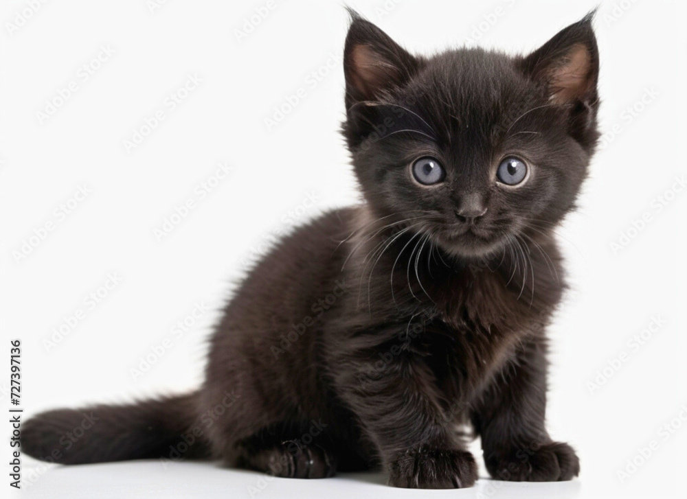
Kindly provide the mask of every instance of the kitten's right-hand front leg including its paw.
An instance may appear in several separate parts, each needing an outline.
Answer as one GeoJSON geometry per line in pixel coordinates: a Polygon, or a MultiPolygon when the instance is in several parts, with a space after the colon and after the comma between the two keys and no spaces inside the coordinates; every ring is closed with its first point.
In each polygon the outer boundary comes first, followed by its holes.
{"type": "Polygon", "coordinates": [[[552,441],[544,426],[546,367],[544,340],[533,338],[473,411],[486,468],[498,480],[552,482],[580,472],[572,447],[552,441]]]}

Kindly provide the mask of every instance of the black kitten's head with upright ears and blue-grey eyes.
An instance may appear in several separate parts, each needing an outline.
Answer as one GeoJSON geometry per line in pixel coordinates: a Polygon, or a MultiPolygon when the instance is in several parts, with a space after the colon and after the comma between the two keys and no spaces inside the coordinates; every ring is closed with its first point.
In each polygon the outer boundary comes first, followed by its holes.
{"type": "Polygon", "coordinates": [[[598,139],[592,14],[528,56],[430,58],[352,14],[343,65],[343,133],[376,218],[477,257],[573,207],[598,139]]]}

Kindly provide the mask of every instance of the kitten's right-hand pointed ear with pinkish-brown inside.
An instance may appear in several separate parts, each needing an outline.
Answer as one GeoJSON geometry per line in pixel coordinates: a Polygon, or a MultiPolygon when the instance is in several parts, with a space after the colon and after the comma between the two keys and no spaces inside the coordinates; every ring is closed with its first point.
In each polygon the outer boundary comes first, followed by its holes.
{"type": "Polygon", "coordinates": [[[592,21],[595,10],[522,61],[530,78],[545,86],[556,104],[596,106],[599,55],[592,21]]]}

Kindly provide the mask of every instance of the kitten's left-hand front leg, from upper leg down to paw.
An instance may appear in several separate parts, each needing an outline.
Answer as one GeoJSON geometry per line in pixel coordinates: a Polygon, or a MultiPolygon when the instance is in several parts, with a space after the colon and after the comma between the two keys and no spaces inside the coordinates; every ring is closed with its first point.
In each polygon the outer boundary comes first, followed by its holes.
{"type": "Polygon", "coordinates": [[[390,485],[414,489],[471,487],[477,465],[442,416],[431,370],[394,344],[349,354],[339,393],[390,472],[390,485]]]}

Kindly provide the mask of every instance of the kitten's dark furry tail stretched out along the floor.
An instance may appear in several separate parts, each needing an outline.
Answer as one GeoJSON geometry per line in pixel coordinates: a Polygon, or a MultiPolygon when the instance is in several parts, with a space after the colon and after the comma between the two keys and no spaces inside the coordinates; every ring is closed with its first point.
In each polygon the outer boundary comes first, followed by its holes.
{"type": "Polygon", "coordinates": [[[21,425],[20,449],[63,464],[128,459],[202,459],[197,393],[120,406],[49,410],[21,425]]]}

